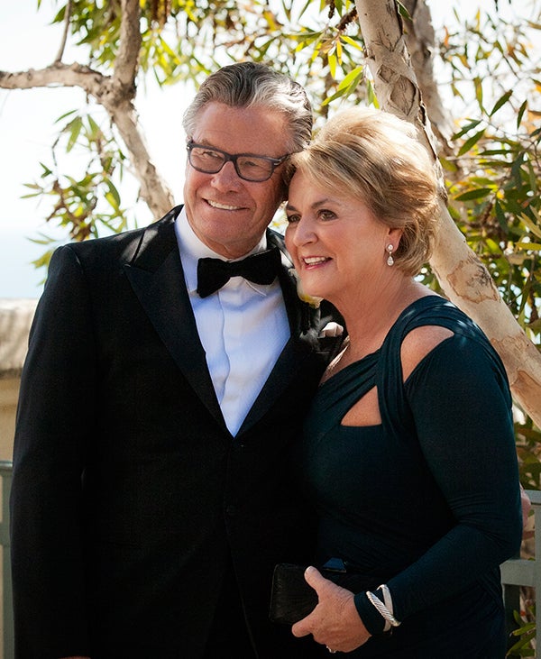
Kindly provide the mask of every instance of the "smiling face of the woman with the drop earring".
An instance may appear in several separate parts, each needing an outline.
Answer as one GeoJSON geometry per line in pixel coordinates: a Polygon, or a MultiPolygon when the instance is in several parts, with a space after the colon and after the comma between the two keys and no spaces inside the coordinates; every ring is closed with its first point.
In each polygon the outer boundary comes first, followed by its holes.
{"type": "Polygon", "coordinates": [[[385,285],[387,246],[396,250],[399,230],[382,224],[361,201],[297,172],[286,213],[286,245],[305,293],[336,303],[385,285]]]}

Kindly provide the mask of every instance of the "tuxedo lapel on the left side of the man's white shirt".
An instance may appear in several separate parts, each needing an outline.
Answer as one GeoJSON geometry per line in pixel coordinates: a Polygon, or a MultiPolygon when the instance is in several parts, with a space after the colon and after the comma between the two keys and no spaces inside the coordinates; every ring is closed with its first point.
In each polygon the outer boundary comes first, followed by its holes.
{"type": "Polygon", "coordinates": [[[209,412],[225,426],[184,282],[174,232],[178,210],[174,209],[148,227],[137,253],[130,263],[124,264],[124,270],[133,292],[180,371],[209,412]]]}

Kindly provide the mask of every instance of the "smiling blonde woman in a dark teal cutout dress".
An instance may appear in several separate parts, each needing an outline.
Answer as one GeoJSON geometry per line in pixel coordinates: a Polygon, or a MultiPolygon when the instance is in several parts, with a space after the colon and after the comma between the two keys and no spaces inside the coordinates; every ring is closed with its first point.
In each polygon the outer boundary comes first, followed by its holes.
{"type": "Polygon", "coordinates": [[[292,157],[286,243],[304,293],[348,338],[294,460],[320,516],[316,609],[293,626],[330,652],[500,659],[499,565],[521,539],[506,373],[471,319],[416,279],[436,233],[437,184],[413,128],[355,108],[292,157]]]}

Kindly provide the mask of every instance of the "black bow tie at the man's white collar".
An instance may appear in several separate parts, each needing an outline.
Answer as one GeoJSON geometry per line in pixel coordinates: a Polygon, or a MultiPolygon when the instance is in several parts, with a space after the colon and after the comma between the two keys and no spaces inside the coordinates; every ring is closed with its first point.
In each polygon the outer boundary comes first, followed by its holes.
{"type": "Polygon", "coordinates": [[[197,293],[199,297],[212,295],[222,288],[231,277],[250,279],[254,284],[271,284],[279,272],[280,250],[273,247],[258,252],[241,261],[199,259],[197,261],[197,293]]]}

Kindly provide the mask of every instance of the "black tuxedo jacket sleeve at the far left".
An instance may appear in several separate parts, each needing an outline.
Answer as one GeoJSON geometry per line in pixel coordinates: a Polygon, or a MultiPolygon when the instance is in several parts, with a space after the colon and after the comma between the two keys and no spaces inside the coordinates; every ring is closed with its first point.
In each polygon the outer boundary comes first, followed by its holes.
{"type": "Polygon", "coordinates": [[[95,389],[88,287],[64,246],[32,323],[17,410],[10,506],[18,657],[88,654],[80,508],[95,389]]]}

